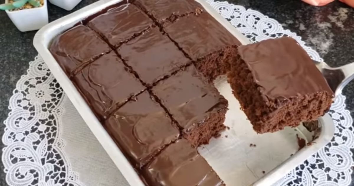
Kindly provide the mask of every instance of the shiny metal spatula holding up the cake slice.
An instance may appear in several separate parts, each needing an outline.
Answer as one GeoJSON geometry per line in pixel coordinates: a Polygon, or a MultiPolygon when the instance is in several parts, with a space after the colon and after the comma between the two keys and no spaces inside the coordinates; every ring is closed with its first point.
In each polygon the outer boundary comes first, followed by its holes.
{"type": "Polygon", "coordinates": [[[354,79],[354,62],[341,67],[332,68],[325,62],[314,61],[316,67],[327,80],[328,85],[337,97],[343,88],[354,79]]]}

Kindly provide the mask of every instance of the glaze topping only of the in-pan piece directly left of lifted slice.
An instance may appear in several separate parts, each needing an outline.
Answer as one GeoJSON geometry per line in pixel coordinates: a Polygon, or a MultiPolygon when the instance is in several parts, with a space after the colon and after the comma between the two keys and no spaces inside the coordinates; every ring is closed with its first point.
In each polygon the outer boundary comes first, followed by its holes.
{"type": "Polygon", "coordinates": [[[241,45],[207,12],[179,18],[164,29],[195,61],[226,46],[241,45]]]}

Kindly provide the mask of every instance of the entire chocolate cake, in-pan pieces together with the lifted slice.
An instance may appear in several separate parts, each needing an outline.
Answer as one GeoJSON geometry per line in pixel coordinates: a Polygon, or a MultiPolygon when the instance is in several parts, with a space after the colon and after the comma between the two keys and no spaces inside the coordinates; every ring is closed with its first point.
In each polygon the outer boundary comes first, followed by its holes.
{"type": "Polygon", "coordinates": [[[225,129],[219,75],[257,133],[329,109],[333,92],[295,40],[240,46],[194,0],[131,3],[81,21],[50,51],[146,185],[224,185],[196,150],[225,129]]]}

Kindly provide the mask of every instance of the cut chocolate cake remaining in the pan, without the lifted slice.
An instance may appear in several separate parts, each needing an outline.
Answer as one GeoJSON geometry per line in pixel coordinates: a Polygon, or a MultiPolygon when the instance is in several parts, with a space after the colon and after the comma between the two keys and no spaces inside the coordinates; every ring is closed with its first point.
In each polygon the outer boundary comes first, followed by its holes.
{"type": "Polygon", "coordinates": [[[196,147],[225,129],[211,84],[240,42],[194,0],[120,2],[50,46],[147,185],[224,185],[196,147]]]}

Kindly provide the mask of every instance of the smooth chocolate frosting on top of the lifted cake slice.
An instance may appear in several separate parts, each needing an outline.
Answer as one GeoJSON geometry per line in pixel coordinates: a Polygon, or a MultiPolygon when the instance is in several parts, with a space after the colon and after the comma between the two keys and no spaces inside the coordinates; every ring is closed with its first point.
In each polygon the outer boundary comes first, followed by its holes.
{"type": "Polygon", "coordinates": [[[238,51],[265,99],[320,91],[333,94],[306,51],[292,38],[264,40],[240,46],[238,51]]]}

